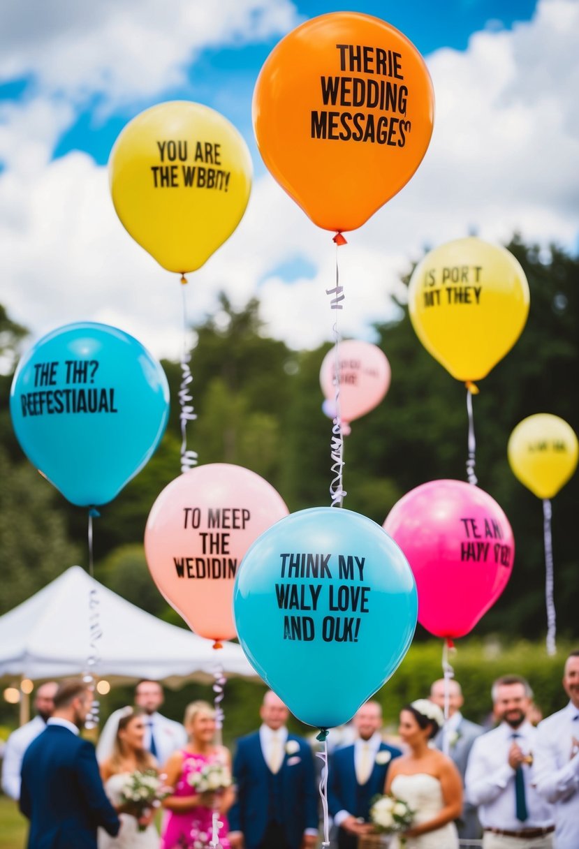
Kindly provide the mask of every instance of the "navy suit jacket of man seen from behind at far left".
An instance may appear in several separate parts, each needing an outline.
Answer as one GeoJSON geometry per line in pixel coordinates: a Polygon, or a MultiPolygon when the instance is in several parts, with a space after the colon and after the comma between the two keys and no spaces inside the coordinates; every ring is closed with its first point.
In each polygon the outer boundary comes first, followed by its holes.
{"type": "Polygon", "coordinates": [[[96,849],[97,826],[110,835],[121,827],[93,744],[62,725],[48,725],[25,751],[20,810],[31,821],[28,849],[96,849]]]}

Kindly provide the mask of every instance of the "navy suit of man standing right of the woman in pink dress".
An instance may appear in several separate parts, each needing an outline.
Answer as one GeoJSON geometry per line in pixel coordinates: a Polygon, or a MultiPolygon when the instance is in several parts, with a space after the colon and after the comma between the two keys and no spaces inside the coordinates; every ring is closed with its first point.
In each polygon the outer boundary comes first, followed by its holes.
{"type": "Polygon", "coordinates": [[[237,800],[228,818],[231,831],[243,831],[246,849],[258,849],[273,823],[283,831],[289,849],[298,849],[306,829],[318,829],[312,751],[305,739],[294,734],[288,735],[286,747],[292,741],[299,750],[288,753],[286,748],[275,775],[261,751],[259,732],[238,741],[233,759],[237,800]]]}

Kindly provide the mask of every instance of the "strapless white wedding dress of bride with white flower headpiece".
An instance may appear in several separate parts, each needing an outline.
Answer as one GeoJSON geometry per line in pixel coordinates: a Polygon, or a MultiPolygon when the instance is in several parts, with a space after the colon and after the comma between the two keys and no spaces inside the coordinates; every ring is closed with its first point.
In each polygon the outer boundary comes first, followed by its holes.
{"type": "MultiPolygon", "coordinates": [[[[441,783],[434,775],[414,773],[396,775],[392,780],[391,794],[407,802],[415,812],[413,825],[420,825],[434,819],[444,807],[441,783]]],[[[396,837],[391,849],[399,849],[396,837]]],[[[419,837],[407,837],[404,849],[458,849],[458,834],[454,823],[447,823],[441,829],[428,831],[419,837]]]]}

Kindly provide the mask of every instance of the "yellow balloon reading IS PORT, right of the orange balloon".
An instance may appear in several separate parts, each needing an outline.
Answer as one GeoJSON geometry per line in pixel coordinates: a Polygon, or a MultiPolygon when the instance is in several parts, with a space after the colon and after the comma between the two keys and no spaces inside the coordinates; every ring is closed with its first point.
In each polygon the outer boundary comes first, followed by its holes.
{"type": "Polygon", "coordinates": [[[508,250],[469,236],[424,256],[408,307],[426,350],[457,380],[481,380],[525,327],[529,285],[508,250]]]}

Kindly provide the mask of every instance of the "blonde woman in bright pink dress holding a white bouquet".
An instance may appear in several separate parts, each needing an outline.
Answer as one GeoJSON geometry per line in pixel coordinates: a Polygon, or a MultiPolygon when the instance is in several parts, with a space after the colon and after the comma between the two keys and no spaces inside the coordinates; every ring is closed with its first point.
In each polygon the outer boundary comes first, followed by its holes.
{"type": "Polygon", "coordinates": [[[218,845],[230,849],[226,814],[233,804],[231,756],[214,742],[215,711],[205,701],[188,705],[183,722],[188,744],[166,762],[166,783],[174,788],[163,800],[168,811],[161,849],[205,849],[214,829],[218,845]]]}

